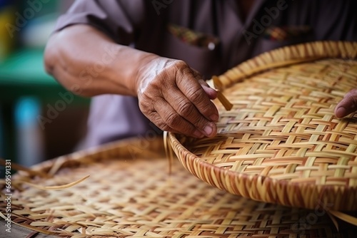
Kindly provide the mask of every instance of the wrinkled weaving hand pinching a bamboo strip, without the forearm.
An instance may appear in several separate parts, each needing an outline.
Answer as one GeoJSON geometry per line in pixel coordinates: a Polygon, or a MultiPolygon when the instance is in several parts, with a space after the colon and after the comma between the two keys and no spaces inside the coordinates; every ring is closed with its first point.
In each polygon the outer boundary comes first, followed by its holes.
{"type": "Polygon", "coordinates": [[[136,77],[139,107],[161,130],[196,138],[216,135],[217,96],[185,62],[154,58],[136,77]]]}

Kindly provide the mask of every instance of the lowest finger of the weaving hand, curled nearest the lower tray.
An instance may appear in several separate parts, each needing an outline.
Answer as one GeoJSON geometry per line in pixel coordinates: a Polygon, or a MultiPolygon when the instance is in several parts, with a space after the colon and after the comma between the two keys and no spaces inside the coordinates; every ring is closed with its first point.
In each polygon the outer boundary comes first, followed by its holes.
{"type": "Polygon", "coordinates": [[[202,138],[203,134],[200,130],[196,129],[185,118],[176,113],[176,110],[164,100],[164,98],[156,100],[154,104],[154,110],[159,115],[159,118],[154,118],[153,121],[161,130],[166,130],[175,133],[181,133],[195,138],[202,138]]]}

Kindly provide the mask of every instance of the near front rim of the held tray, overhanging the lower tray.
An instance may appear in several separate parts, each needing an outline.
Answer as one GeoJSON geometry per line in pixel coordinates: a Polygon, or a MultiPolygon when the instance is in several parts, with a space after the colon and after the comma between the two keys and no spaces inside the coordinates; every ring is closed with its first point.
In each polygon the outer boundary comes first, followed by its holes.
{"type": "Polygon", "coordinates": [[[322,207],[337,211],[357,210],[357,187],[293,184],[261,175],[222,170],[188,151],[173,133],[169,133],[168,139],[171,148],[186,170],[209,185],[226,190],[233,195],[288,207],[306,209],[322,207]],[[295,196],[291,197],[288,194],[295,196]],[[306,194],[312,196],[308,197],[306,194]]]}

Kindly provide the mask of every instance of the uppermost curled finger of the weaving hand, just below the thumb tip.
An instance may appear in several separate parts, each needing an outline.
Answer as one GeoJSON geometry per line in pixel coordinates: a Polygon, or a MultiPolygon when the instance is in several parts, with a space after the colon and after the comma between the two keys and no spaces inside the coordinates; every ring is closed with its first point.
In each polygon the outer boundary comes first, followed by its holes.
{"type": "Polygon", "coordinates": [[[181,68],[176,73],[176,85],[183,95],[196,106],[201,115],[208,120],[218,120],[218,110],[208,98],[201,85],[193,80],[190,68],[181,68]]]}

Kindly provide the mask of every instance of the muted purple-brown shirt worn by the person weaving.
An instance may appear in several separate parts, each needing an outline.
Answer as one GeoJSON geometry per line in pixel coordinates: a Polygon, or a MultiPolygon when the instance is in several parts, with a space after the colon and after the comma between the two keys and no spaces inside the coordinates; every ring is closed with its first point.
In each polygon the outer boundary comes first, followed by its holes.
{"type": "MultiPolygon", "coordinates": [[[[78,0],[56,31],[90,24],[117,43],[186,61],[204,78],[280,46],[357,40],[353,0],[256,0],[245,15],[240,6],[236,0],[78,0]]],[[[100,95],[92,101],[85,147],[148,130],[153,126],[136,98],[100,95]]]]}

